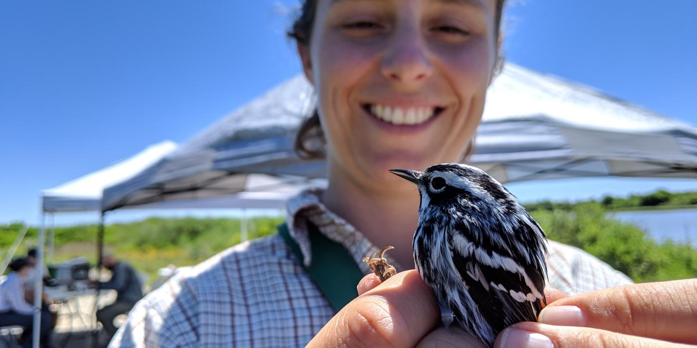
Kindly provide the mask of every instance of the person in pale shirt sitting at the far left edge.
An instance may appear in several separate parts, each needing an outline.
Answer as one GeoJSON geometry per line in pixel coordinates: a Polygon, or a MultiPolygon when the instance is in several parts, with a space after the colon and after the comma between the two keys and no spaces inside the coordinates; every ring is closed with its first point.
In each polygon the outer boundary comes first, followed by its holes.
{"type": "MultiPolygon", "coordinates": [[[[0,326],[22,326],[22,347],[31,347],[34,308],[24,300],[22,278],[31,270],[29,261],[18,258],[10,263],[10,273],[0,280],[0,326]]],[[[41,310],[39,342],[41,347],[51,347],[51,315],[41,310]]]]}

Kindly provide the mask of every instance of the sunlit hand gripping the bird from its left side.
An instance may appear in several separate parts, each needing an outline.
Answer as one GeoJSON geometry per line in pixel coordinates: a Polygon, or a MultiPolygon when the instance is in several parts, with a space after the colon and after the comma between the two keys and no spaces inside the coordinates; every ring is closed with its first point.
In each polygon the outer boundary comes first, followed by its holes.
{"type": "Polygon", "coordinates": [[[414,347],[439,320],[431,288],[404,271],[339,310],[308,347],[414,347]]]}

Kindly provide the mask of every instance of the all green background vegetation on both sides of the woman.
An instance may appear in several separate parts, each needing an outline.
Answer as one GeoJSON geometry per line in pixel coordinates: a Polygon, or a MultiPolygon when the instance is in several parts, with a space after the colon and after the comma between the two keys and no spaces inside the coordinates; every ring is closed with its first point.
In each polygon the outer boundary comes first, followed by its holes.
{"type": "MultiPolygon", "coordinates": [[[[656,242],[629,223],[606,216],[608,210],[661,207],[697,207],[697,192],[657,191],[629,198],[606,197],[583,203],[541,202],[526,205],[550,239],[577,246],[597,256],[637,282],[697,277],[697,248],[677,242],[656,242]]],[[[271,235],[282,218],[250,219],[249,238],[271,235]]],[[[21,228],[0,226],[0,253],[4,255],[21,228]]],[[[55,261],[85,256],[96,260],[94,225],[55,229],[55,261]]],[[[18,254],[36,245],[36,228],[27,232],[18,254]]],[[[240,242],[238,219],[151,218],[106,227],[105,246],[116,257],[131,262],[154,280],[168,264],[197,264],[240,242]]]]}

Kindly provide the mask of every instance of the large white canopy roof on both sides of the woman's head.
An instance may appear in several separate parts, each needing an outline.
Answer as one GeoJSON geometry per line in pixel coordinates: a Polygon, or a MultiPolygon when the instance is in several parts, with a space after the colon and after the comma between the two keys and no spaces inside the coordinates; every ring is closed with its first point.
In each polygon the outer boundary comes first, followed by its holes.
{"type": "MultiPolygon", "coordinates": [[[[250,173],[325,175],[293,135],[314,107],[298,76],[223,118],[157,164],[105,189],[104,211],[245,191],[250,173]]],[[[487,93],[475,155],[501,182],[620,175],[696,177],[697,129],[592,88],[508,63],[487,93]]]]}

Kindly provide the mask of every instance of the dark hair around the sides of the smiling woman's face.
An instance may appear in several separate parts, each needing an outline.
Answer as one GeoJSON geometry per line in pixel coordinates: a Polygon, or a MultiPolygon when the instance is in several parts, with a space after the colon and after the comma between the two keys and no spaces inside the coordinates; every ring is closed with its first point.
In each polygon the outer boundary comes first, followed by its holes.
{"type": "MultiPolygon", "coordinates": [[[[503,6],[506,0],[496,0],[496,39],[498,40],[501,35],[501,18],[503,17],[503,6]]],[[[309,40],[312,37],[312,24],[314,24],[314,16],[317,9],[317,0],[305,0],[302,3],[302,8],[300,8],[300,15],[293,22],[291,30],[288,31],[289,38],[293,38],[300,45],[309,45],[309,40]]],[[[503,52],[498,52],[498,57],[496,58],[496,65],[494,72],[498,74],[503,68],[504,55],[503,52]]],[[[298,132],[296,133],[296,139],[293,143],[293,150],[295,150],[298,157],[302,159],[321,159],[324,157],[325,149],[325,139],[322,133],[322,126],[319,121],[319,112],[317,109],[312,111],[312,116],[305,119],[298,132]]],[[[474,152],[474,137],[470,141],[467,151],[465,152],[461,160],[467,159],[474,152]]]]}

